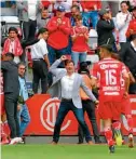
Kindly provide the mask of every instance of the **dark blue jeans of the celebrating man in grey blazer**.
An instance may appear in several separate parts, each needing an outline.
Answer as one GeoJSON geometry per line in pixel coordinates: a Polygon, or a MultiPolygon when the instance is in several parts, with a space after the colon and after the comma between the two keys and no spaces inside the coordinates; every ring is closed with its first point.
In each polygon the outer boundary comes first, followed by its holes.
{"type": "Polygon", "coordinates": [[[55,128],[54,128],[53,141],[56,143],[58,142],[62,123],[63,123],[63,121],[69,110],[72,110],[79,124],[82,127],[83,133],[85,134],[86,142],[92,141],[90,131],[89,131],[87,125],[84,120],[83,109],[77,108],[73,105],[72,101],[71,102],[60,102],[60,106],[59,106],[59,109],[57,112],[56,123],[55,123],[55,128]]]}

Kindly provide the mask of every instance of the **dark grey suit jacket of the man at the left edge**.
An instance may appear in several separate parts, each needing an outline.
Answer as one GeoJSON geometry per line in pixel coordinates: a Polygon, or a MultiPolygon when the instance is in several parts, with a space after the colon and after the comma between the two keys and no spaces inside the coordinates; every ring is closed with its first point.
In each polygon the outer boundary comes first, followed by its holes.
{"type": "Polygon", "coordinates": [[[4,93],[19,94],[19,81],[17,65],[13,61],[1,62],[3,72],[4,93]]]}

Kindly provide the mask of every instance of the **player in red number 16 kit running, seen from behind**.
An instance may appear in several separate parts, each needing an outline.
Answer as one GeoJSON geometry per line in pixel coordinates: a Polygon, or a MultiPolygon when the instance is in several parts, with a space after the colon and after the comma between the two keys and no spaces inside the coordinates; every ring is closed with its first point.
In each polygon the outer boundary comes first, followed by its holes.
{"type": "Polygon", "coordinates": [[[104,120],[105,136],[109,145],[110,153],[114,153],[114,142],[112,138],[111,127],[119,133],[117,142],[122,143],[120,136],[120,102],[127,96],[128,74],[124,64],[111,57],[112,47],[104,44],[100,47],[101,61],[96,63],[93,68],[93,76],[99,81],[99,107],[100,119],[104,120]],[[125,91],[121,90],[121,79],[125,79],[125,91]],[[112,123],[113,122],[113,123],[112,123]]]}

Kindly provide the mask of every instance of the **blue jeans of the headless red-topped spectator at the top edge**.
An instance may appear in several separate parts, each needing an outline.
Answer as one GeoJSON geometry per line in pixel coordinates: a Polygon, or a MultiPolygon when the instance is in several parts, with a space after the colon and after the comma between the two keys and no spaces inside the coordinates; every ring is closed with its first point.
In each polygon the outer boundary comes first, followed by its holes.
{"type": "Polygon", "coordinates": [[[98,22],[98,12],[97,11],[91,11],[91,12],[83,12],[83,25],[86,27],[91,27],[91,23],[93,25],[93,28],[96,28],[97,22],[98,22]]]}

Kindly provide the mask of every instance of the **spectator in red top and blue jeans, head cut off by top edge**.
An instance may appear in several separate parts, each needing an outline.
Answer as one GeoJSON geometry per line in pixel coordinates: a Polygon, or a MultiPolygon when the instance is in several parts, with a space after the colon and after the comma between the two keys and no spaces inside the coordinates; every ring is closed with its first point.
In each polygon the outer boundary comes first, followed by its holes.
{"type": "Polygon", "coordinates": [[[100,0],[82,0],[81,5],[83,8],[83,23],[86,23],[85,26],[91,27],[91,23],[93,28],[96,28],[96,24],[98,22],[98,11],[101,9],[100,0]]]}

